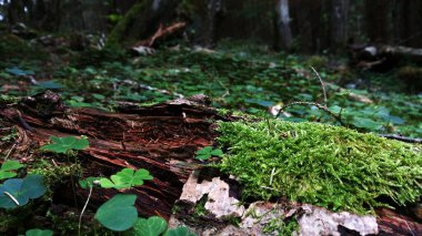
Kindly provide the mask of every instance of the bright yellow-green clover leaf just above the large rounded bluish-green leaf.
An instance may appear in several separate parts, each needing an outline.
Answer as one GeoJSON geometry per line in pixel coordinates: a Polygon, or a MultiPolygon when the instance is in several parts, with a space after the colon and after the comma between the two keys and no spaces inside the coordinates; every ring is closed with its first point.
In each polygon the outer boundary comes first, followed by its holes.
{"type": "Polygon", "coordinates": [[[123,168],[115,175],[111,175],[109,178],[101,178],[100,185],[104,188],[130,188],[133,186],[140,186],[143,181],[152,179],[150,172],[144,168],[140,168],[137,172],[132,168],[123,168]]]}

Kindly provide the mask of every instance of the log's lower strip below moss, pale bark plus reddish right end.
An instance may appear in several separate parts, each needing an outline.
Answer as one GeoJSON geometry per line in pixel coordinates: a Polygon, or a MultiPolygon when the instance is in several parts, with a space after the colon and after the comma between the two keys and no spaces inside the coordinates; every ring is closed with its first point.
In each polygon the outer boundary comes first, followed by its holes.
{"type": "MultiPolygon", "coordinates": [[[[380,208],[376,215],[333,213],[310,204],[288,199],[277,203],[254,202],[242,204],[235,194],[238,187],[231,177],[208,176],[201,181],[201,172],[194,171],[177,202],[178,212],[170,225],[188,225],[199,235],[278,235],[263,233],[265,225],[275,220],[298,220],[299,235],[419,235],[422,224],[391,209],[380,208]],[[205,197],[204,203],[200,203],[205,197]],[[207,211],[192,217],[195,206],[203,204],[207,211]],[[238,227],[224,219],[238,218],[238,227]],[[198,222],[203,224],[198,224],[198,222]]],[[[202,177],[203,178],[203,177],[202,177]]],[[[263,189],[264,191],[264,189],[263,189]]]]}

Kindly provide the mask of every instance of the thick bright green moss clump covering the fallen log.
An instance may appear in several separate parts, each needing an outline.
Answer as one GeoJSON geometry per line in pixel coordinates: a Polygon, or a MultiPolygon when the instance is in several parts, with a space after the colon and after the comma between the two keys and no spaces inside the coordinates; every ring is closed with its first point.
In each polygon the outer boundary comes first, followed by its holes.
{"type": "Polygon", "coordinates": [[[244,197],[284,195],[333,211],[368,213],[390,197],[422,193],[421,146],[319,123],[219,123],[228,147],[220,168],[238,176],[244,197]]]}

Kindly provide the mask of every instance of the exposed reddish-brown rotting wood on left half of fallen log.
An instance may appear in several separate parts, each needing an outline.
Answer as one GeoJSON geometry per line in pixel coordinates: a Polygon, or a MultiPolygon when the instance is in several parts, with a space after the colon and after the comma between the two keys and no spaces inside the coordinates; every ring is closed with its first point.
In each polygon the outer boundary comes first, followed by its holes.
{"type": "MultiPolygon", "coordinates": [[[[9,158],[24,162],[28,156],[20,154],[33,152],[29,148],[46,144],[51,135],[86,135],[90,146],[78,154],[83,178],[110,176],[124,167],[145,168],[154,178],[125,193],[138,195],[140,215],[168,218],[183,184],[199,165],[194,152],[213,144],[215,134],[210,121],[224,119],[201,99],[180,99],[148,107],[127,104],[118,110],[120,113],[68,109],[52,92],[26,99],[17,106],[0,107],[0,120],[19,124],[20,136],[26,137],[16,143],[9,158]]],[[[91,203],[96,207],[117,193],[96,189],[91,203]]],[[[78,188],[77,196],[83,203],[88,192],[78,188]]],[[[54,198],[68,201],[62,204],[73,202],[69,191],[54,198]]]]}

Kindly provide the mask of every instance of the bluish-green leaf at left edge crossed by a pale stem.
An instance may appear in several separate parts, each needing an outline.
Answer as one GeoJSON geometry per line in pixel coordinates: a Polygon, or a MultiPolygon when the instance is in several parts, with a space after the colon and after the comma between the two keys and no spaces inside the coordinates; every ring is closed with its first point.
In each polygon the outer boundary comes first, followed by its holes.
{"type": "Polygon", "coordinates": [[[24,178],[9,178],[0,185],[0,207],[14,208],[26,205],[29,199],[46,193],[41,175],[28,175],[24,178]]]}

